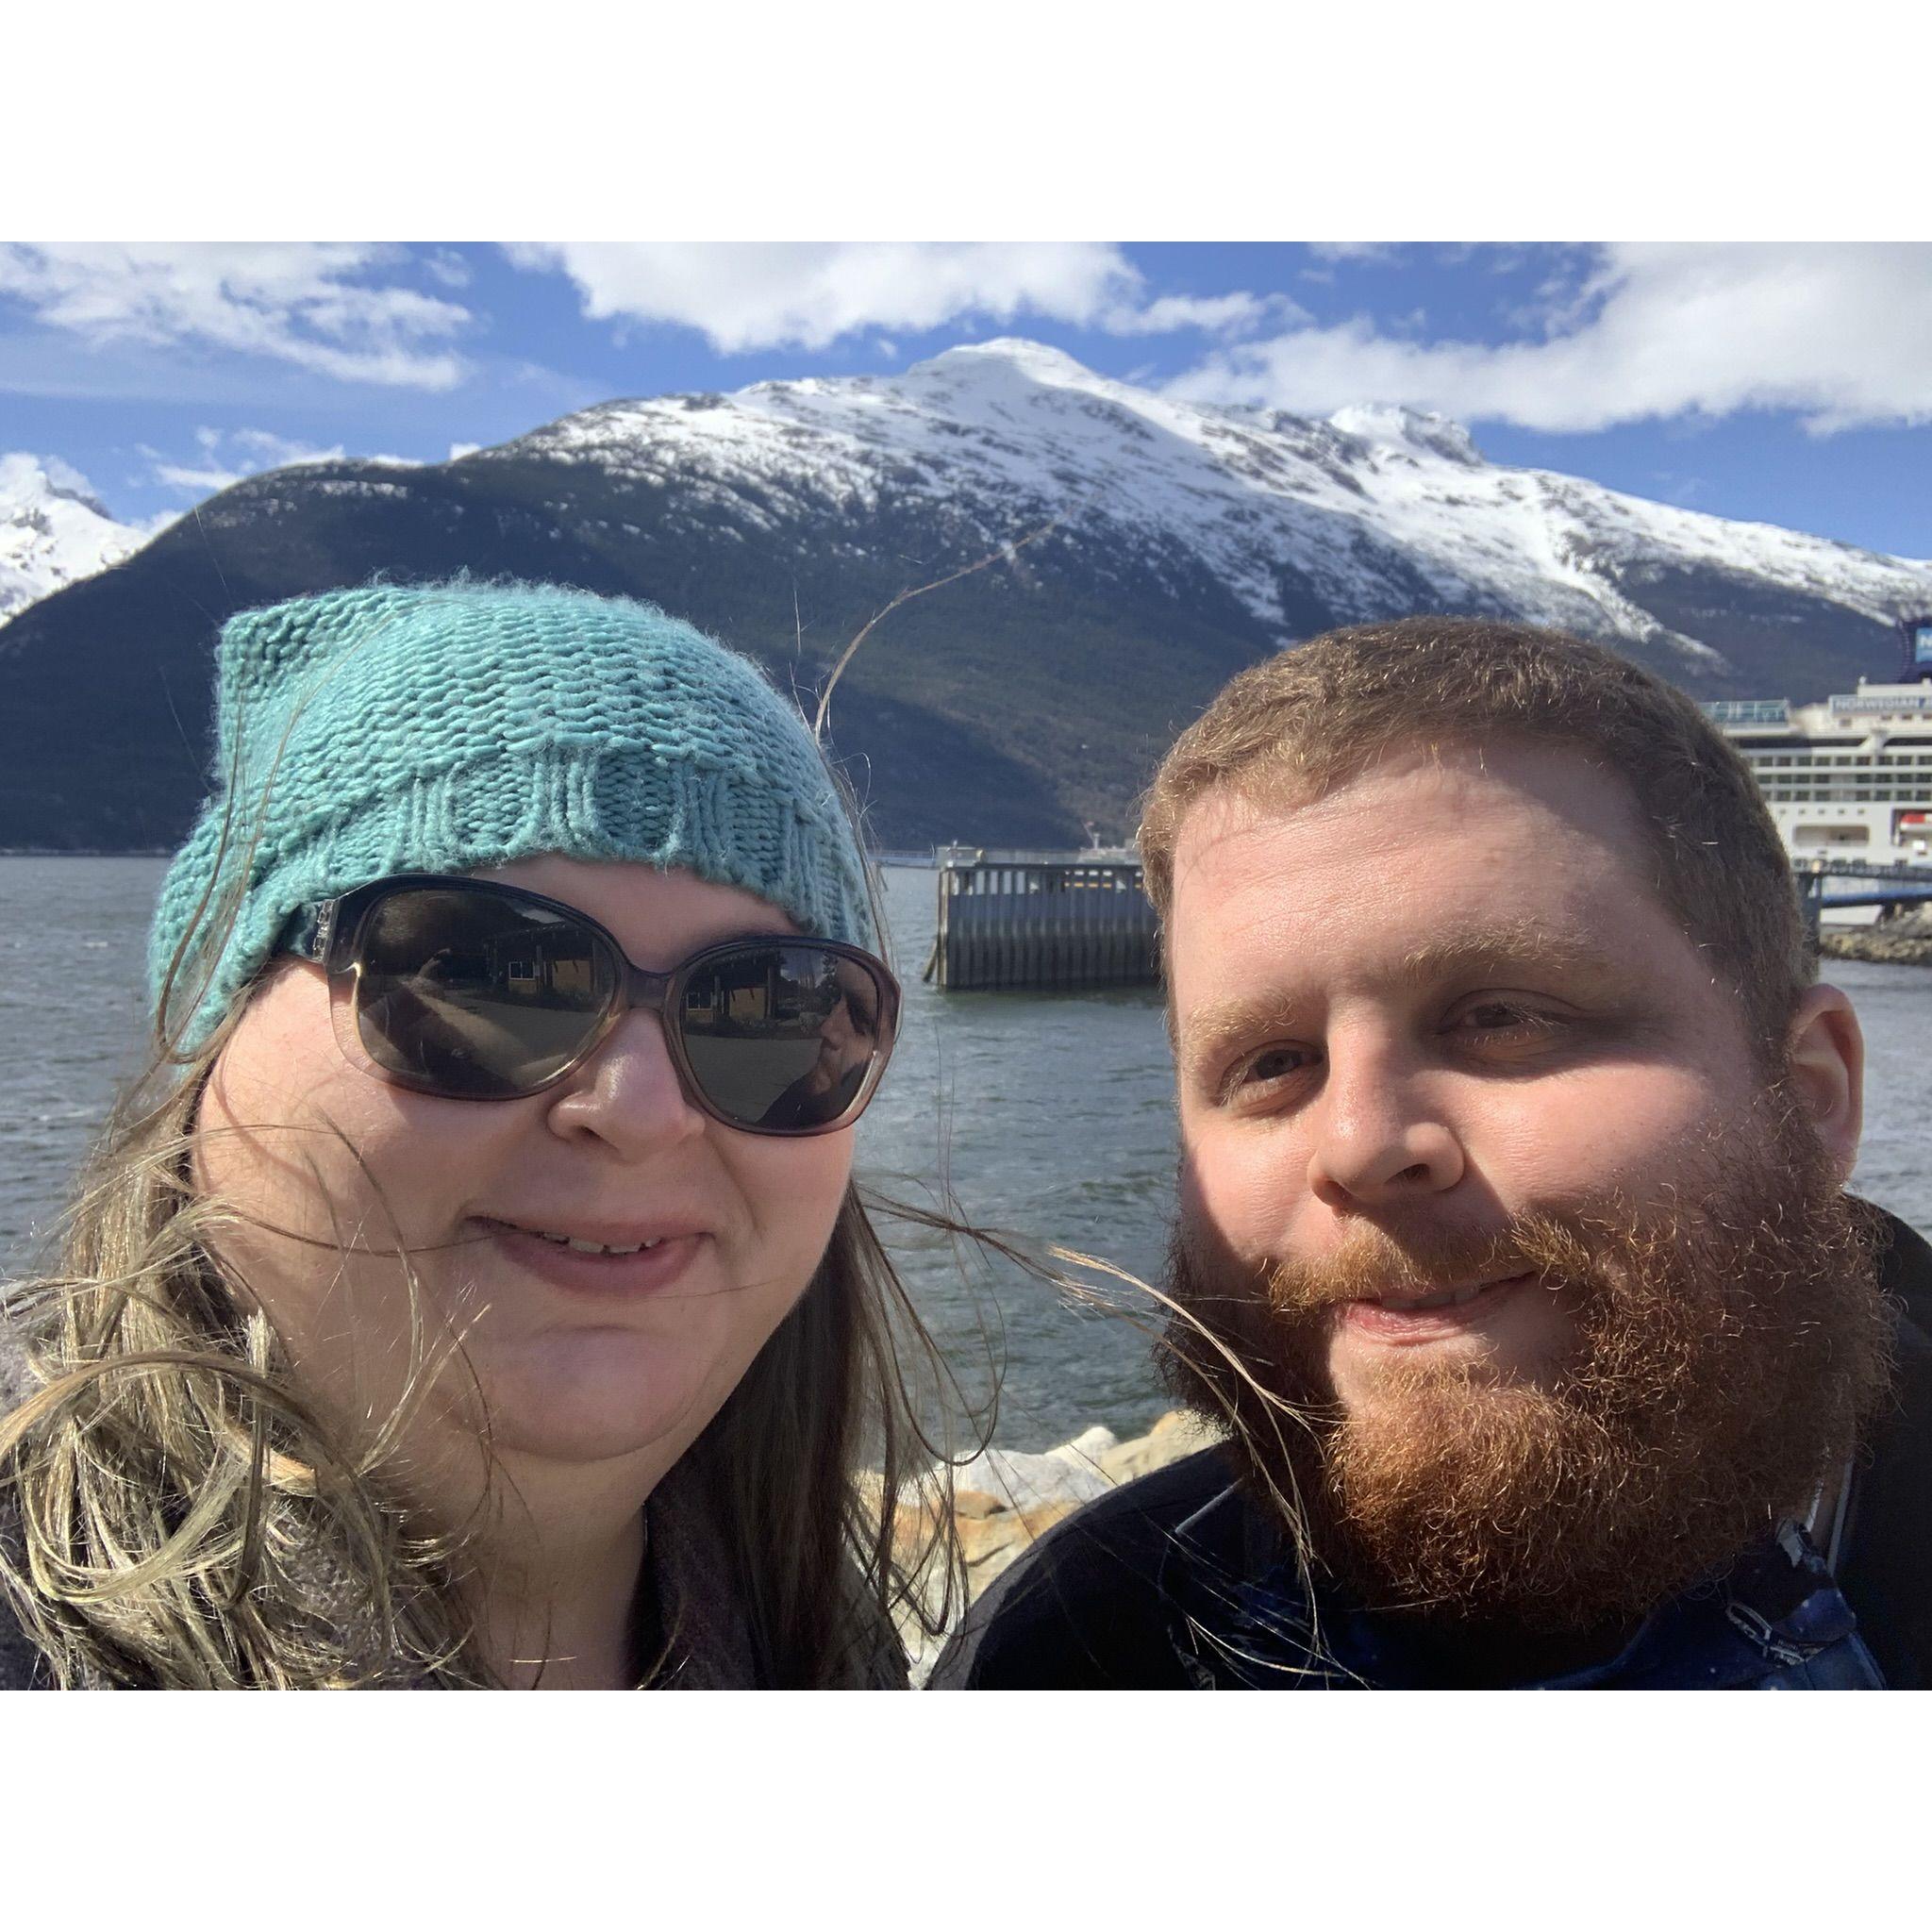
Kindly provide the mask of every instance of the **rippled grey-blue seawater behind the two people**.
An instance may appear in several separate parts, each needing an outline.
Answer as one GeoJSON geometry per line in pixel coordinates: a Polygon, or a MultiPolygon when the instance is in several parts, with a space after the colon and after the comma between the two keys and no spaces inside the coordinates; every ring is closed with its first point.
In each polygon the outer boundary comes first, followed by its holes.
{"type": "MultiPolygon", "coordinates": [[[[114,1086],[135,1063],[155,858],[0,858],[0,1277],[60,1213],[114,1086]]],[[[1159,995],[937,993],[931,871],[891,869],[887,920],[906,1010],[891,1076],[860,1124],[860,1173],[1039,1250],[1059,1242],[1157,1281],[1175,1180],[1159,995]]],[[[1932,972],[1830,962],[1864,1022],[1866,1130],[1853,1186],[1932,1227],[1932,972]]],[[[983,1401],[995,1439],[1045,1449],[1094,1422],[1126,1435],[1167,1406],[1150,1368],[1157,1310],[1068,1302],[970,1242],[883,1233],[922,1316],[983,1401]]]]}

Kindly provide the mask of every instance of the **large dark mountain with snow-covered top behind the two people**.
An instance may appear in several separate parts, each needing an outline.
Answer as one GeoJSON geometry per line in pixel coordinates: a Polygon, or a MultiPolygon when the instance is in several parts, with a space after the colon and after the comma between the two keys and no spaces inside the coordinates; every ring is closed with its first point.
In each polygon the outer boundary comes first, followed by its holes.
{"type": "Polygon", "coordinates": [[[1211,408],[985,342],[243,479],[0,626],[0,844],[178,838],[228,612],[456,570],[649,597],[808,707],[867,618],[949,580],[831,707],[885,844],[1121,835],[1235,670],[1335,624],[1528,618],[1698,696],[1812,699],[1889,674],[1889,622],[1932,607],[1928,562],[1499,468],[1441,417],[1211,408]]]}

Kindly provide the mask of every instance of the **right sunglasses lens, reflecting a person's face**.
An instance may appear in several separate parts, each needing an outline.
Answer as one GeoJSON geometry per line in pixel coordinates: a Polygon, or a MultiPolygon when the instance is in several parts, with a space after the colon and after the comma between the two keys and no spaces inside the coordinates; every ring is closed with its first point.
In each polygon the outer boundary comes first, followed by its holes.
{"type": "Polygon", "coordinates": [[[881,987],[811,945],[757,945],[697,966],[678,1020],[705,1099],[738,1126],[802,1132],[850,1113],[891,1045],[881,987]]]}

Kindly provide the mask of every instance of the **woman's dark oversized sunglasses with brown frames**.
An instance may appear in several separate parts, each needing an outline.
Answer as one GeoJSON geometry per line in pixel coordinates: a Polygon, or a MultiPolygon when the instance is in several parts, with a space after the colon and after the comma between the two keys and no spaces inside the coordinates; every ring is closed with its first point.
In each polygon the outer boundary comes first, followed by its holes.
{"type": "Polygon", "coordinates": [[[898,1028],[898,981],[858,947],[726,939],[647,972],[574,906],[442,873],[303,906],[282,951],[327,970],[352,1061],[444,1099],[541,1094],[641,1007],[701,1113],[744,1134],[829,1134],[866,1111],[898,1028]]]}

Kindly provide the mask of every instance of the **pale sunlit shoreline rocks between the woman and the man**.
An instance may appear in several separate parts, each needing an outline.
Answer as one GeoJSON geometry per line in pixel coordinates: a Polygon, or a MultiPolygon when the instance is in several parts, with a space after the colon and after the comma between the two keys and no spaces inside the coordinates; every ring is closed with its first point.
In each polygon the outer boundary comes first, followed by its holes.
{"type": "MultiPolygon", "coordinates": [[[[958,1532],[966,1575],[964,1600],[954,1594],[947,1629],[951,1631],[966,1613],[966,1605],[1063,1517],[1213,1441],[1215,1435],[1198,1416],[1175,1408],[1146,1435],[1126,1441],[1113,1430],[1095,1426],[1037,1455],[985,1449],[970,1463],[958,1464],[952,1470],[952,1526],[958,1532]]],[[[927,1520],[918,1505],[900,1505],[896,1534],[908,1555],[925,1542],[927,1520]]],[[[937,1611],[943,1588],[945,1580],[939,1575],[929,1573],[923,1578],[929,1611],[937,1611]]],[[[925,1636],[908,1613],[900,1636],[912,1662],[912,1681],[923,1683],[945,1646],[945,1633],[937,1638],[925,1636]]]]}

